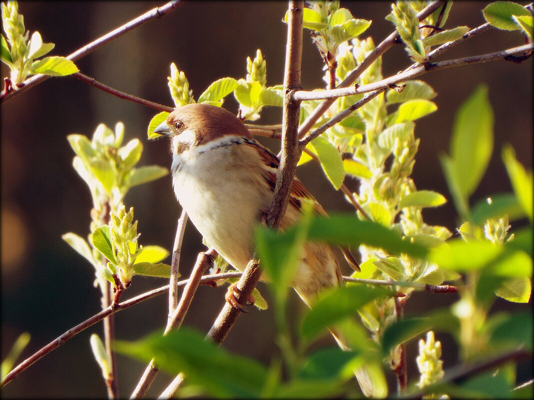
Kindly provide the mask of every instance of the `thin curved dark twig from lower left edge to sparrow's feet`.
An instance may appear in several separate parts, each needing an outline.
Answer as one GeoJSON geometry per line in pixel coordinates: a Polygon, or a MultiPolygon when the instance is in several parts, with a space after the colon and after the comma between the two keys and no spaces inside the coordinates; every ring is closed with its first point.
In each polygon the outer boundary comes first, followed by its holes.
{"type": "MultiPolygon", "coordinates": [[[[241,275],[242,274],[240,272],[205,275],[202,277],[202,279],[200,279],[200,282],[210,282],[210,281],[214,281],[217,279],[239,278],[241,277],[241,275]]],[[[184,281],[178,282],[178,287],[185,286],[187,282],[189,282],[189,279],[185,279],[184,281]]],[[[38,350],[32,356],[25,359],[25,361],[21,362],[11,372],[5,375],[5,377],[2,379],[0,388],[3,388],[5,385],[7,385],[7,383],[17,378],[18,375],[22,371],[26,370],[30,365],[32,365],[33,363],[35,363],[36,361],[38,361],[39,359],[41,359],[42,357],[50,353],[52,350],[58,348],[59,346],[64,344],[67,340],[74,337],[75,335],[82,332],[83,330],[87,329],[88,327],[96,324],[97,322],[108,317],[109,315],[117,313],[118,311],[124,310],[131,306],[135,306],[137,303],[140,303],[148,299],[152,299],[153,297],[156,297],[160,294],[167,293],[168,290],[169,290],[169,285],[165,285],[165,286],[159,287],[158,289],[154,289],[149,292],[139,294],[137,297],[134,297],[130,300],[123,301],[121,303],[117,303],[113,307],[109,306],[108,308],[100,311],[100,313],[95,314],[92,317],[83,321],[82,323],[72,327],[67,332],[61,334],[58,338],[48,343],[48,345],[38,350]]]]}

